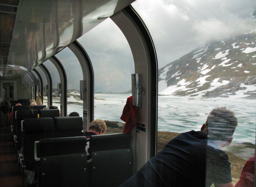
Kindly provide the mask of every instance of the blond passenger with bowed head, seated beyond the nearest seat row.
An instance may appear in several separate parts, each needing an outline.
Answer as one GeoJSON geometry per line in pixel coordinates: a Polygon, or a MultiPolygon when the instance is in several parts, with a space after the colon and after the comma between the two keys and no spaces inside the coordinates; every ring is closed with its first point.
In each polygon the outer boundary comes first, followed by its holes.
{"type": "Polygon", "coordinates": [[[89,127],[89,132],[85,132],[84,136],[86,137],[86,146],[85,152],[87,154],[87,162],[92,162],[92,155],[90,152],[90,138],[92,135],[99,135],[105,133],[107,130],[106,123],[101,119],[95,119],[91,122],[89,127]]]}

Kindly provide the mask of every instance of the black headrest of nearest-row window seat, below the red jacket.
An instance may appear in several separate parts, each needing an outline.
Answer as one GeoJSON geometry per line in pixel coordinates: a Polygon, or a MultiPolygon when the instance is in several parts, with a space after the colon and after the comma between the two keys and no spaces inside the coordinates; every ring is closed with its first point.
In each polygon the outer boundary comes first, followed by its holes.
{"type": "Polygon", "coordinates": [[[92,135],[90,147],[92,152],[126,149],[130,148],[130,141],[130,133],[92,135]]]}

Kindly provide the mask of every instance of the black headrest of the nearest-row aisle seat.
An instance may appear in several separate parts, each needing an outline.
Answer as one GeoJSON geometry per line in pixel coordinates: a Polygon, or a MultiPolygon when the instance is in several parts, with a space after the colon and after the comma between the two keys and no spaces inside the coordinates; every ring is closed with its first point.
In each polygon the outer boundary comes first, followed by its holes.
{"type": "MultiPolygon", "coordinates": [[[[39,141],[39,157],[85,153],[86,137],[51,138],[39,141]]],[[[86,159],[86,154],[84,154],[86,159]]]]}

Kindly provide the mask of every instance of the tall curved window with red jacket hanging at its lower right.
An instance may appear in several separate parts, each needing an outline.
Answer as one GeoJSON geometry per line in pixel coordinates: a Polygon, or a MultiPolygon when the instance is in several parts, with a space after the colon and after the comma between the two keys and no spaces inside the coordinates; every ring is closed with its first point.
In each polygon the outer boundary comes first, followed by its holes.
{"type": "MultiPolygon", "coordinates": [[[[94,72],[94,119],[105,120],[108,129],[119,127],[127,97],[132,95],[132,52],[123,33],[110,19],[93,28],[78,42],[88,53],[94,72]]],[[[107,133],[110,132],[107,130],[107,133]]]]}

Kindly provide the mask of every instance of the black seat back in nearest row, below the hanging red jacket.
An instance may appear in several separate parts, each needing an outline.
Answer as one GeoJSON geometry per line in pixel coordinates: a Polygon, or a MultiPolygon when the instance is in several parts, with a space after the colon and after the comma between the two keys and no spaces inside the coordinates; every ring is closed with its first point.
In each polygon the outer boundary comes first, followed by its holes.
{"type": "Polygon", "coordinates": [[[89,175],[92,186],[102,186],[106,182],[108,186],[119,186],[132,176],[130,141],[130,133],[91,137],[92,168],[89,175]]]}

